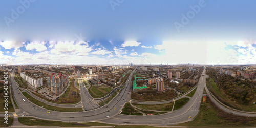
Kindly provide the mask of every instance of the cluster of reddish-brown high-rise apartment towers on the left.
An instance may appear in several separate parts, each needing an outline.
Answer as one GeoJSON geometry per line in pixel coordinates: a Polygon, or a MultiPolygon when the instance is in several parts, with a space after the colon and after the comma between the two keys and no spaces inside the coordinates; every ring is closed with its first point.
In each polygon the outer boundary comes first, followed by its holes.
{"type": "Polygon", "coordinates": [[[64,87],[67,86],[68,81],[68,74],[52,73],[51,76],[49,75],[47,77],[47,87],[50,88],[50,93],[58,95],[63,91],[64,87]]]}

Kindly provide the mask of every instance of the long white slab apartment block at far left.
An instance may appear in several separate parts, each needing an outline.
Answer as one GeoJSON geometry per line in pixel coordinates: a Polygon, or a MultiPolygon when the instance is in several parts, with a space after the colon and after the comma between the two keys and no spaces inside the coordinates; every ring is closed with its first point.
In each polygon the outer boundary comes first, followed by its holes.
{"type": "Polygon", "coordinates": [[[24,72],[20,73],[20,77],[26,80],[31,86],[38,88],[42,86],[42,78],[33,78],[32,76],[26,75],[24,72]]]}

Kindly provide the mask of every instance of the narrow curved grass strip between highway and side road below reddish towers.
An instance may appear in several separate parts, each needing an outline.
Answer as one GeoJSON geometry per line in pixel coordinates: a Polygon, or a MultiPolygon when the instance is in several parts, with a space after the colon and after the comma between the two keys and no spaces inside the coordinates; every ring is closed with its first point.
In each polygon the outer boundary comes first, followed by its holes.
{"type": "Polygon", "coordinates": [[[79,112],[79,111],[82,111],[82,108],[60,108],[60,107],[56,107],[56,106],[50,106],[50,105],[47,105],[46,103],[43,103],[43,102],[40,102],[40,101],[36,100],[32,96],[30,96],[27,92],[23,92],[22,94],[27,99],[29,99],[30,102],[33,102],[34,104],[36,104],[38,106],[44,106],[44,108],[47,109],[47,110],[59,111],[59,112],[79,112]]]}

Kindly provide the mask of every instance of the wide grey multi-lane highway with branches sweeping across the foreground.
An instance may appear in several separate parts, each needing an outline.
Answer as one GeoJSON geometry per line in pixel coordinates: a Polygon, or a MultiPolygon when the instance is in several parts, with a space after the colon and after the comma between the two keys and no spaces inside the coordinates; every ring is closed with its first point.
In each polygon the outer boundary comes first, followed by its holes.
{"type": "MultiPolygon", "coordinates": [[[[47,119],[47,120],[58,120],[58,121],[64,121],[64,122],[90,122],[90,121],[101,121],[104,123],[113,123],[113,124],[124,124],[125,122],[130,122],[137,125],[144,125],[144,124],[174,124],[174,123],[181,123],[181,122],[187,122],[193,120],[193,118],[198,114],[199,107],[203,95],[203,90],[206,88],[206,79],[205,79],[205,68],[203,70],[203,73],[199,79],[197,90],[193,97],[188,101],[186,105],[184,105],[181,109],[175,110],[170,113],[161,114],[161,115],[151,115],[151,116],[131,116],[131,115],[121,115],[119,114],[121,112],[121,109],[123,108],[123,105],[126,102],[130,101],[131,93],[129,93],[132,90],[132,84],[131,79],[133,73],[136,71],[136,68],[131,72],[129,75],[129,78],[124,83],[124,88],[120,91],[120,93],[117,94],[115,98],[108,104],[104,105],[101,108],[93,107],[95,104],[92,98],[89,96],[87,97],[86,94],[88,94],[88,91],[86,89],[83,89],[83,82],[82,80],[79,80],[80,85],[80,92],[82,98],[82,105],[83,109],[87,111],[83,112],[56,112],[56,111],[49,111],[44,108],[41,108],[40,106],[36,106],[35,104],[29,102],[28,99],[26,99],[18,90],[16,83],[14,83],[14,75],[11,75],[11,82],[13,86],[13,94],[16,103],[18,104],[20,111],[17,113],[18,116],[23,115],[22,112],[26,111],[29,116],[35,116],[41,119],[47,119]],[[127,86],[127,87],[125,87],[127,86]],[[26,101],[23,101],[22,99],[25,99],[26,101]],[[90,103],[88,103],[88,101],[90,103]],[[34,109],[32,109],[34,108],[34,109]],[[38,109],[38,110],[37,110],[38,109]],[[47,113],[49,111],[50,113],[47,113]],[[110,116],[110,117],[109,117],[110,116]],[[188,118],[190,117],[191,118],[188,118]]],[[[14,70],[11,72],[14,73],[14,70]]],[[[208,92],[207,88],[206,91],[208,92]]],[[[238,115],[242,116],[251,116],[256,117],[256,114],[254,113],[243,113],[243,112],[237,112],[234,110],[230,110],[228,108],[225,108],[220,103],[218,103],[208,92],[209,97],[214,101],[218,106],[220,106],[221,109],[223,109],[226,112],[232,112],[238,115]]],[[[175,99],[177,100],[177,99],[175,99]]]]}

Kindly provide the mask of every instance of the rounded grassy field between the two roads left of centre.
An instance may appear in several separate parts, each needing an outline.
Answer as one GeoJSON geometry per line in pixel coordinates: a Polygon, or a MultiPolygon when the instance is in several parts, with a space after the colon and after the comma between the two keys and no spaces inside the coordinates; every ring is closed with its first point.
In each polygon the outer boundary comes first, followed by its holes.
{"type": "Polygon", "coordinates": [[[101,98],[108,95],[113,88],[107,87],[104,84],[91,86],[88,91],[93,98],[101,98]]]}

